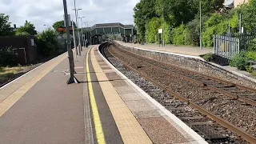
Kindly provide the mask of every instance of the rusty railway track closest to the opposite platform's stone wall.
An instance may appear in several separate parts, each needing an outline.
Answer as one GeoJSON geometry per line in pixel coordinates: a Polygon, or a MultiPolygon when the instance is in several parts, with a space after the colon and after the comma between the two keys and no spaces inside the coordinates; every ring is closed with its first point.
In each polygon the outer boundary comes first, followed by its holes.
{"type": "Polygon", "coordinates": [[[154,61],[150,58],[144,58],[138,54],[132,54],[129,51],[123,50],[122,52],[134,58],[150,61],[150,65],[158,66],[162,68],[162,70],[167,70],[169,73],[176,74],[178,77],[184,78],[189,82],[194,82],[200,86],[204,86],[206,90],[213,90],[230,98],[238,99],[239,101],[246,102],[252,106],[256,106],[256,90],[250,87],[238,85],[232,82],[226,82],[219,78],[214,78],[205,74],[199,74],[194,71],[185,70],[170,64],[164,65],[161,62],[154,61]]]}

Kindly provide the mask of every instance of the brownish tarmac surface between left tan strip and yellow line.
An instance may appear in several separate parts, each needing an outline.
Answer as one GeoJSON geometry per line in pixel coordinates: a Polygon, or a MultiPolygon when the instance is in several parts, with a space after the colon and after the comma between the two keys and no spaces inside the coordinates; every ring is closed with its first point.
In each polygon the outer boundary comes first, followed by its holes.
{"type": "Polygon", "coordinates": [[[84,143],[82,85],[66,85],[68,77],[46,74],[3,114],[0,143],[84,143]]]}

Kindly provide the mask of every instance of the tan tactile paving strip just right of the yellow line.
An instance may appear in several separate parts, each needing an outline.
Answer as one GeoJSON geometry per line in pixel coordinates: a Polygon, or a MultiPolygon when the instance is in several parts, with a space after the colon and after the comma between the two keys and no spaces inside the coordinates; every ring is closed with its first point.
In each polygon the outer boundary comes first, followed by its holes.
{"type": "Polygon", "coordinates": [[[131,144],[152,143],[137,119],[134,118],[134,114],[130,112],[125,102],[122,101],[122,98],[120,98],[114,86],[112,86],[109,79],[106,77],[106,74],[104,74],[102,68],[98,65],[94,50],[91,50],[90,54],[94,70],[98,72],[96,76],[102,88],[102,93],[110,107],[110,111],[118,126],[123,142],[131,144]]]}

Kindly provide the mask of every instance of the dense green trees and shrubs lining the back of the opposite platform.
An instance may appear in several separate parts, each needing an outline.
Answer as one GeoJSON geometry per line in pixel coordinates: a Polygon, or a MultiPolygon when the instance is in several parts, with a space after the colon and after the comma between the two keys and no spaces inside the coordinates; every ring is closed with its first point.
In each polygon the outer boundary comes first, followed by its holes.
{"type": "Polygon", "coordinates": [[[158,29],[164,26],[166,44],[199,45],[199,2],[202,2],[202,42],[213,46],[214,34],[238,33],[238,14],[246,32],[256,32],[256,0],[230,10],[224,0],[141,0],[134,7],[134,23],[139,41],[158,42],[158,29]]]}

